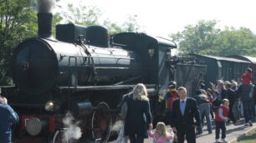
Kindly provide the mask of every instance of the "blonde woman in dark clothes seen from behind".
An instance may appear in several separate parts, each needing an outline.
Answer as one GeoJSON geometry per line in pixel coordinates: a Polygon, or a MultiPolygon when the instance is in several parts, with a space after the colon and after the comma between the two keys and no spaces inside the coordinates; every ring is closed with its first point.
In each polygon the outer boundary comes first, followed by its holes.
{"type": "Polygon", "coordinates": [[[125,119],[125,136],[131,143],[142,143],[148,137],[148,126],[152,128],[150,103],[146,86],[137,84],[132,91],[132,98],[125,98],[128,106],[125,119]]]}

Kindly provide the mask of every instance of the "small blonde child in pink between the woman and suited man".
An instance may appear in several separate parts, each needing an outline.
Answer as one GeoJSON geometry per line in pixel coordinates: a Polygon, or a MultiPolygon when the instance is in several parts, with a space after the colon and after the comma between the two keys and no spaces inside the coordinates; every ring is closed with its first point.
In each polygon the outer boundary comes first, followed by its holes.
{"type": "Polygon", "coordinates": [[[174,133],[171,129],[170,132],[166,131],[166,125],[163,122],[158,122],[156,125],[156,131],[148,131],[149,136],[152,137],[153,143],[172,143],[174,133]]]}

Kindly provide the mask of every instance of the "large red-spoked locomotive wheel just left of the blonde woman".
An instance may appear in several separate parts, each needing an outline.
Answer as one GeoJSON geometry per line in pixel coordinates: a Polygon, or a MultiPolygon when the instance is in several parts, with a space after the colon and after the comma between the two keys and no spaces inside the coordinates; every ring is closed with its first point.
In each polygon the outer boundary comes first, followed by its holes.
{"type": "Polygon", "coordinates": [[[112,117],[109,112],[110,109],[105,102],[100,102],[98,110],[94,111],[91,121],[92,136],[96,142],[107,142],[110,138],[112,117]]]}

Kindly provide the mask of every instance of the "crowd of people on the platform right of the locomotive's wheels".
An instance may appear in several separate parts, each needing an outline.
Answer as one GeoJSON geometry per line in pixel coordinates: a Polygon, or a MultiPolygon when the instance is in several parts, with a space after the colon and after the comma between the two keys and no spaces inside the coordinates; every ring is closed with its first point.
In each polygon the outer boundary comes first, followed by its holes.
{"type": "MultiPolygon", "coordinates": [[[[204,83],[195,95],[187,96],[186,87],[177,88],[175,81],[169,83],[167,92],[160,96],[161,104],[166,107],[166,128],[164,122],[158,122],[153,131],[150,102],[146,86],[138,84],[133,91],[124,96],[120,108],[125,105],[124,128],[120,131],[118,143],[142,143],[144,138],[152,137],[153,143],[195,143],[196,136],[202,134],[204,119],[208,134],[212,134],[212,120],[215,121],[215,142],[227,142],[226,125],[236,124],[244,117],[244,126],[253,126],[256,107],[256,86],[252,83],[250,68],[237,81],[217,81],[206,88],[204,83]],[[222,132],[221,136],[220,131],[222,132]],[[175,136],[176,133],[176,136],[175,136]],[[121,139],[125,139],[122,141],[121,139]]],[[[256,84],[256,82],[255,82],[256,84]]],[[[120,111],[123,111],[121,109],[120,111]]]]}

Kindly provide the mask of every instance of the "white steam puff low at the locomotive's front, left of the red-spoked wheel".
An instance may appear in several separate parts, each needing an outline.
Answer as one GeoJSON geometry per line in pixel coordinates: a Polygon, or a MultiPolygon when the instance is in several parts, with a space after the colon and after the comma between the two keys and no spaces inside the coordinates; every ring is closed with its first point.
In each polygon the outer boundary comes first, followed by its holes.
{"type": "Polygon", "coordinates": [[[79,121],[74,121],[74,116],[70,112],[67,112],[63,123],[67,128],[65,132],[69,141],[72,141],[72,139],[78,140],[82,136],[81,128],[78,126],[79,121]]]}

